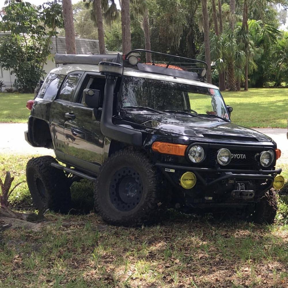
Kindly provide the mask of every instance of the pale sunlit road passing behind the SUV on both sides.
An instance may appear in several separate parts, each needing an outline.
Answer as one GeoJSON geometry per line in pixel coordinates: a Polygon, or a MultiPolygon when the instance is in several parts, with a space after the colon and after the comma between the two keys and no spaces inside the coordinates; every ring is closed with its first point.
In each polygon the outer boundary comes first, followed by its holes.
{"type": "MultiPolygon", "coordinates": [[[[24,139],[25,130],[27,130],[26,123],[0,123],[0,154],[54,155],[51,149],[30,146],[24,139]]],[[[287,129],[257,128],[255,130],[268,135],[276,141],[277,147],[281,149],[282,152],[281,162],[288,162],[287,129]]]]}

